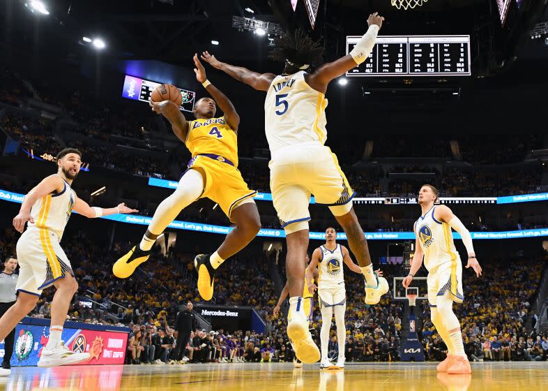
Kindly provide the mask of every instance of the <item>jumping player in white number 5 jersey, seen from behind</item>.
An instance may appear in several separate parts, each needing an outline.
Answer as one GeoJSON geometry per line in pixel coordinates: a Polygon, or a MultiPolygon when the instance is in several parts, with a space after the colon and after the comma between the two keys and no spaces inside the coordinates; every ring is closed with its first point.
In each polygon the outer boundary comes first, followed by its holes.
{"type": "Polygon", "coordinates": [[[329,82],[363,63],[371,53],[383,17],[367,20],[369,29],[346,56],[312,70],[324,51],[304,31],[297,30],[275,39],[271,57],[284,62],[282,75],[255,73],[222,63],[208,52],[202,59],[249,84],[267,91],[264,103],[265,131],[271,150],[271,191],[277,215],[287,237],[286,269],[289,282],[291,320],[287,334],[297,357],[303,362],[320,359],[318,347],[308,331],[303,311],[303,258],[308,248],[308,205],[314,194],[317,204],[328,205],[347,233],[349,246],[365,276],[365,302],[376,304],[388,291],[388,282],[373,271],[369,249],[358,218],[353,212],[352,191],[337,162],[324,146],[327,139],[325,97],[329,82]]]}

